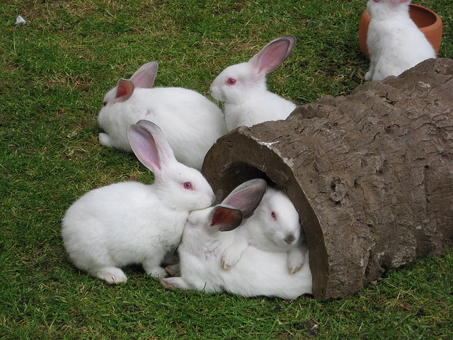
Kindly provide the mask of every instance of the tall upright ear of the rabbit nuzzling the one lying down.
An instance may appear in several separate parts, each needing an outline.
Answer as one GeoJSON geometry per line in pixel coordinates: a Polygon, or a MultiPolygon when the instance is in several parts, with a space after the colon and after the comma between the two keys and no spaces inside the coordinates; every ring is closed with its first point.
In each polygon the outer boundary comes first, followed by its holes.
{"type": "Polygon", "coordinates": [[[139,120],[127,129],[132,151],[140,162],[154,174],[175,160],[173,151],[168,145],[162,130],[148,120],[139,120]]]}

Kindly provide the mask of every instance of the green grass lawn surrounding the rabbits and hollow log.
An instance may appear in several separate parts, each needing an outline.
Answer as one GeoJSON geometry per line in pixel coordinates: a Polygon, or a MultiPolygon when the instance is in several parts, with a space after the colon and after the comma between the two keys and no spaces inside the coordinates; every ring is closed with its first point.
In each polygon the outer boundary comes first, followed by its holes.
{"type": "MultiPolygon", "coordinates": [[[[453,56],[450,0],[440,57],[453,56]]],[[[452,339],[453,252],[387,273],[353,297],[245,299],[161,288],[140,268],[124,285],[76,271],[65,210],[92,188],[149,182],[130,154],[98,144],[103,95],[144,62],[156,86],[209,95],[214,77],[279,35],[297,46],[268,79],[297,103],[349,94],[368,62],[365,1],[2,1],[0,6],[1,339],[452,339]],[[16,27],[16,16],[28,21],[16,27]]]]}

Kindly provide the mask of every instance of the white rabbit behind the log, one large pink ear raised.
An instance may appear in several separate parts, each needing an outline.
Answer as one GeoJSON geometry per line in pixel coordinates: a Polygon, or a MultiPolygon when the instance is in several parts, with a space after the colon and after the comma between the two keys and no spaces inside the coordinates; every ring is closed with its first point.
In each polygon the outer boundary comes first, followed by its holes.
{"type": "Polygon", "coordinates": [[[285,35],[263,47],[248,62],[226,67],[210,86],[212,96],[224,101],[226,128],[286,119],[296,105],[268,91],[266,75],[291,53],[296,37],[285,35]]]}

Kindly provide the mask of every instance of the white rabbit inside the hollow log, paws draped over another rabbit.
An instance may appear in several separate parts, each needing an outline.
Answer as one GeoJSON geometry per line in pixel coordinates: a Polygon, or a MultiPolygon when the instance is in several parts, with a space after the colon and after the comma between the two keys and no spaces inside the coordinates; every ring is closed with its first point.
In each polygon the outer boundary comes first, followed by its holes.
{"type": "Polygon", "coordinates": [[[268,187],[253,215],[236,229],[233,244],[222,254],[222,266],[229,270],[249,244],[264,251],[287,252],[289,273],[304,265],[305,235],[296,208],[281,190],[268,187]]]}

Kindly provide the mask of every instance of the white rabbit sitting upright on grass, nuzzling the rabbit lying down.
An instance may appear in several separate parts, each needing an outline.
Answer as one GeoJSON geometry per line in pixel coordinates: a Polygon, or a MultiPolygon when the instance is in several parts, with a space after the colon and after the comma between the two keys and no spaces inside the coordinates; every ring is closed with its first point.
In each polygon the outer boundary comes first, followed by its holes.
{"type": "Polygon", "coordinates": [[[120,269],[142,264],[154,277],[176,248],[191,210],[209,207],[214,193],[195,169],[178,163],[157,125],[140,120],[128,130],[130,145],[154,183],[115,183],[76,200],[62,220],[62,237],[74,265],[108,283],[127,280],[120,269]]]}

